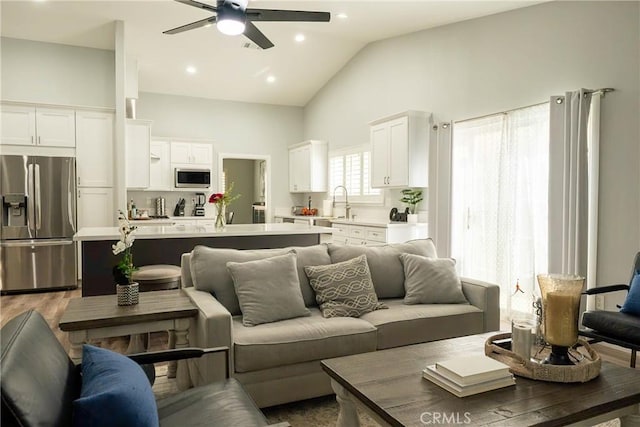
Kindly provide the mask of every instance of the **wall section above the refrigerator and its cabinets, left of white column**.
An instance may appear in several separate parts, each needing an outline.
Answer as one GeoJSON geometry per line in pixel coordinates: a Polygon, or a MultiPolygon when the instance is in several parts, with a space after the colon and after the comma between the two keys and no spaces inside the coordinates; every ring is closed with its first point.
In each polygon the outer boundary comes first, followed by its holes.
{"type": "Polygon", "coordinates": [[[115,106],[111,50],[0,40],[3,100],[73,106],[115,106]]]}

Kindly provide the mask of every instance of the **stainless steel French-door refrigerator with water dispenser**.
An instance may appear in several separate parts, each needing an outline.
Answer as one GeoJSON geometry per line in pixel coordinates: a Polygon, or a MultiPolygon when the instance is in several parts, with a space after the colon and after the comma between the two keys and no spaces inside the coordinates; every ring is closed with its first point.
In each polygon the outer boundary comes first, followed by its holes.
{"type": "Polygon", "coordinates": [[[77,287],[72,157],[0,156],[0,292],[77,287]]]}

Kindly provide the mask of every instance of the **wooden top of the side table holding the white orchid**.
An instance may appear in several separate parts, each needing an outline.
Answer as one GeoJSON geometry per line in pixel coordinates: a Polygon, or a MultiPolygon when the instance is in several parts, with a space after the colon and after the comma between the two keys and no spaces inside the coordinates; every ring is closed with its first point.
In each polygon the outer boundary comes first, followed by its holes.
{"type": "Polygon", "coordinates": [[[141,292],[136,305],[119,306],[116,295],[74,298],[60,319],[63,331],[79,331],[192,317],[198,309],[181,290],[141,292]]]}

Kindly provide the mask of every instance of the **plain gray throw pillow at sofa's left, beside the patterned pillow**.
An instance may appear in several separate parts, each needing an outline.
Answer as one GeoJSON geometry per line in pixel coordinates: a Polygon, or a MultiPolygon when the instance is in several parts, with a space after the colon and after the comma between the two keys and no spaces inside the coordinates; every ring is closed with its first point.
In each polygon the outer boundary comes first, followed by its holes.
{"type": "Polygon", "coordinates": [[[257,261],[228,262],[227,269],[244,326],[311,315],[304,306],[293,252],[257,261]]]}

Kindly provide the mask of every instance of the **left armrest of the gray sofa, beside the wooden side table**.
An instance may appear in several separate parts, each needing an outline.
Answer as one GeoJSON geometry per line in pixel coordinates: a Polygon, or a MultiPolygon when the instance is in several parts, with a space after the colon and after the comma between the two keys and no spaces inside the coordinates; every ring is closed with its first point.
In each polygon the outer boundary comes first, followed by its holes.
{"type": "Polygon", "coordinates": [[[201,348],[228,347],[228,355],[210,354],[188,361],[189,383],[194,386],[209,384],[226,378],[226,366],[233,376],[233,331],[231,313],[208,292],[186,288],[184,292],[198,307],[198,316],[192,321],[189,345],[201,348]],[[227,360],[225,360],[225,357],[227,360]]]}

